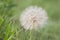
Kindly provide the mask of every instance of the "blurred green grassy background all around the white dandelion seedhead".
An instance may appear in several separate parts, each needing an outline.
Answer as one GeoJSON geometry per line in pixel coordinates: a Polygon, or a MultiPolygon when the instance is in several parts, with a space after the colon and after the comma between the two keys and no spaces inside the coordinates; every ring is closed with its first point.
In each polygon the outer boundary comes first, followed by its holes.
{"type": "Polygon", "coordinates": [[[60,40],[60,0],[0,0],[0,40],[60,40]],[[39,31],[23,29],[21,12],[29,6],[46,10],[48,23],[39,31]]]}

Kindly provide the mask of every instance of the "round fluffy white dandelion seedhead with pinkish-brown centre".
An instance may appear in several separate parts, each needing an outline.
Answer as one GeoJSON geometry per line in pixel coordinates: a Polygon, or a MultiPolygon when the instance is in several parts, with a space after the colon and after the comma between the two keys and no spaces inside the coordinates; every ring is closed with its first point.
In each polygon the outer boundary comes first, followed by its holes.
{"type": "Polygon", "coordinates": [[[47,20],[46,11],[37,6],[26,8],[20,15],[21,26],[26,30],[42,28],[47,20]]]}

